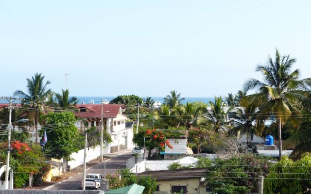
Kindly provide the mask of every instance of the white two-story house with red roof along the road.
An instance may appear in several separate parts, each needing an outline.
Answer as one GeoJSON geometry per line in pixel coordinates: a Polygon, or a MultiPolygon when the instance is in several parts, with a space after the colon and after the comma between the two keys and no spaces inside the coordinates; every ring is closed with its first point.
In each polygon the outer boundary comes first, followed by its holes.
{"type": "MultiPolygon", "coordinates": [[[[90,127],[101,128],[102,105],[101,104],[79,104],[76,105],[78,112],[76,116],[80,117],[76,126],[80,130],[86,130],[90,127]]],[[[133,128],[126,127],[125,117],[122,113],[124,109],[117,104],[103,105],[103,123],[104,129],[110,134],[112,143],[106,144],[105,153],[112,153],[123,149],[133,148],[133,128]]]]}

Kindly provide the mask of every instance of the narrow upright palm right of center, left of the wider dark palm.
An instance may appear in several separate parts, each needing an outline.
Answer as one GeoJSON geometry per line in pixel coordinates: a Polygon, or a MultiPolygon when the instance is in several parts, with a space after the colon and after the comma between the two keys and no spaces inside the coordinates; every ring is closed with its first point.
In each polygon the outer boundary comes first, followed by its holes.
{"type": "Polygon", "coordinates": [[[209,101],[209,107],[207,107],[207,119],[214,126],[215,132],[219,132],[223,128],[226,111],[225,103],[222,97],[215,97],[215,101],[209,101]]]}

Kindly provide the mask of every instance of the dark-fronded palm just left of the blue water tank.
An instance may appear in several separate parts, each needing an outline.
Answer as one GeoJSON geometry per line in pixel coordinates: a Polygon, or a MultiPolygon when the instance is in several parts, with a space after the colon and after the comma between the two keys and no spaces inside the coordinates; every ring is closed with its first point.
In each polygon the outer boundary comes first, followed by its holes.
{"type": "Polygon", "coordinates": [[[229,134],[238,135],[246,134],[247,146],[252,144],[254,134],[261,136],[262,131],[265,127],[264,120],[258,119],[258,109],[252,104],[244,105],[245,108],[235,108],[234,113],[231,118],[238,125],[232,129],[229,129],[229,134]],[[250,144],[249,144],[250,142],[250,144]]]}

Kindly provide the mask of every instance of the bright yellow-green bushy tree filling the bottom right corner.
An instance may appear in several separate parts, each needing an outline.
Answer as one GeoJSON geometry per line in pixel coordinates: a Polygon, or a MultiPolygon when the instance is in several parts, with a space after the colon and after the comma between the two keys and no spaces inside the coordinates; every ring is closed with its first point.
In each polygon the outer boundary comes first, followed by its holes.
{"type": "Polygon", "coordinates": [[[265,194],[306,194],[310,192],[311,154],[294,162],[287,156],[275,163],[264,181],[265,194]]]}

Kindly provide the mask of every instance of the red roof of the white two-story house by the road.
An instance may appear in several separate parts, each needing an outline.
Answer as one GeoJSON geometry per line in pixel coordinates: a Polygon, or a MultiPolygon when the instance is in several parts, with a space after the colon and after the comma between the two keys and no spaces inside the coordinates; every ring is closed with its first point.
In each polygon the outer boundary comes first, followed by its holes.
{"type": "MultiPolygon", "coordinates": [[[[86,109],[86,112],[78,112],[75,113],[77,116],[81,116],[83,118],[90,118],[90,117],[98,117],[100,118],[102,115],[102,105],[101,104],[78,104],[75,106],[77,109],[86,109]]],[[[103,105],[103,118],[116,118],[121,105],[117,104],[104,104],[103,105]]]]}

